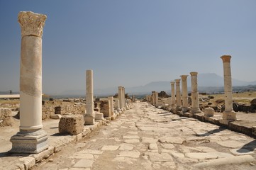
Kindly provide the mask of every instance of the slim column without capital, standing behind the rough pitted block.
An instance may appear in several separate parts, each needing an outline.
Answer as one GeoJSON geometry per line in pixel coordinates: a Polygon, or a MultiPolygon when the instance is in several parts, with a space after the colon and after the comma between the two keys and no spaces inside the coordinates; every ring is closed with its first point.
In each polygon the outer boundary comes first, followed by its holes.
{"type": "Polygon", "coordinates": [[[94,81],[93,81],[93,71],[91,69],[86,72],[87,79],[87,114],[84,115],[84,125],[94,125],[95,113],[94,113],[94,81]]]}

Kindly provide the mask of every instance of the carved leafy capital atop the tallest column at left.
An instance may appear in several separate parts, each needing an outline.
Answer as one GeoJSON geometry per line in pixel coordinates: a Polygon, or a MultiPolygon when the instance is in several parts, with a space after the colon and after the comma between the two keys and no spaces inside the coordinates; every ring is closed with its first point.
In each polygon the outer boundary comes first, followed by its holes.
{"type": "Polygon", "coordinates": [[[21,36],[34,35],[42,37],[43,27],[47,16],[31,11],[21,11],[18,13],[18,23],[21,26],[21,36]]]}

